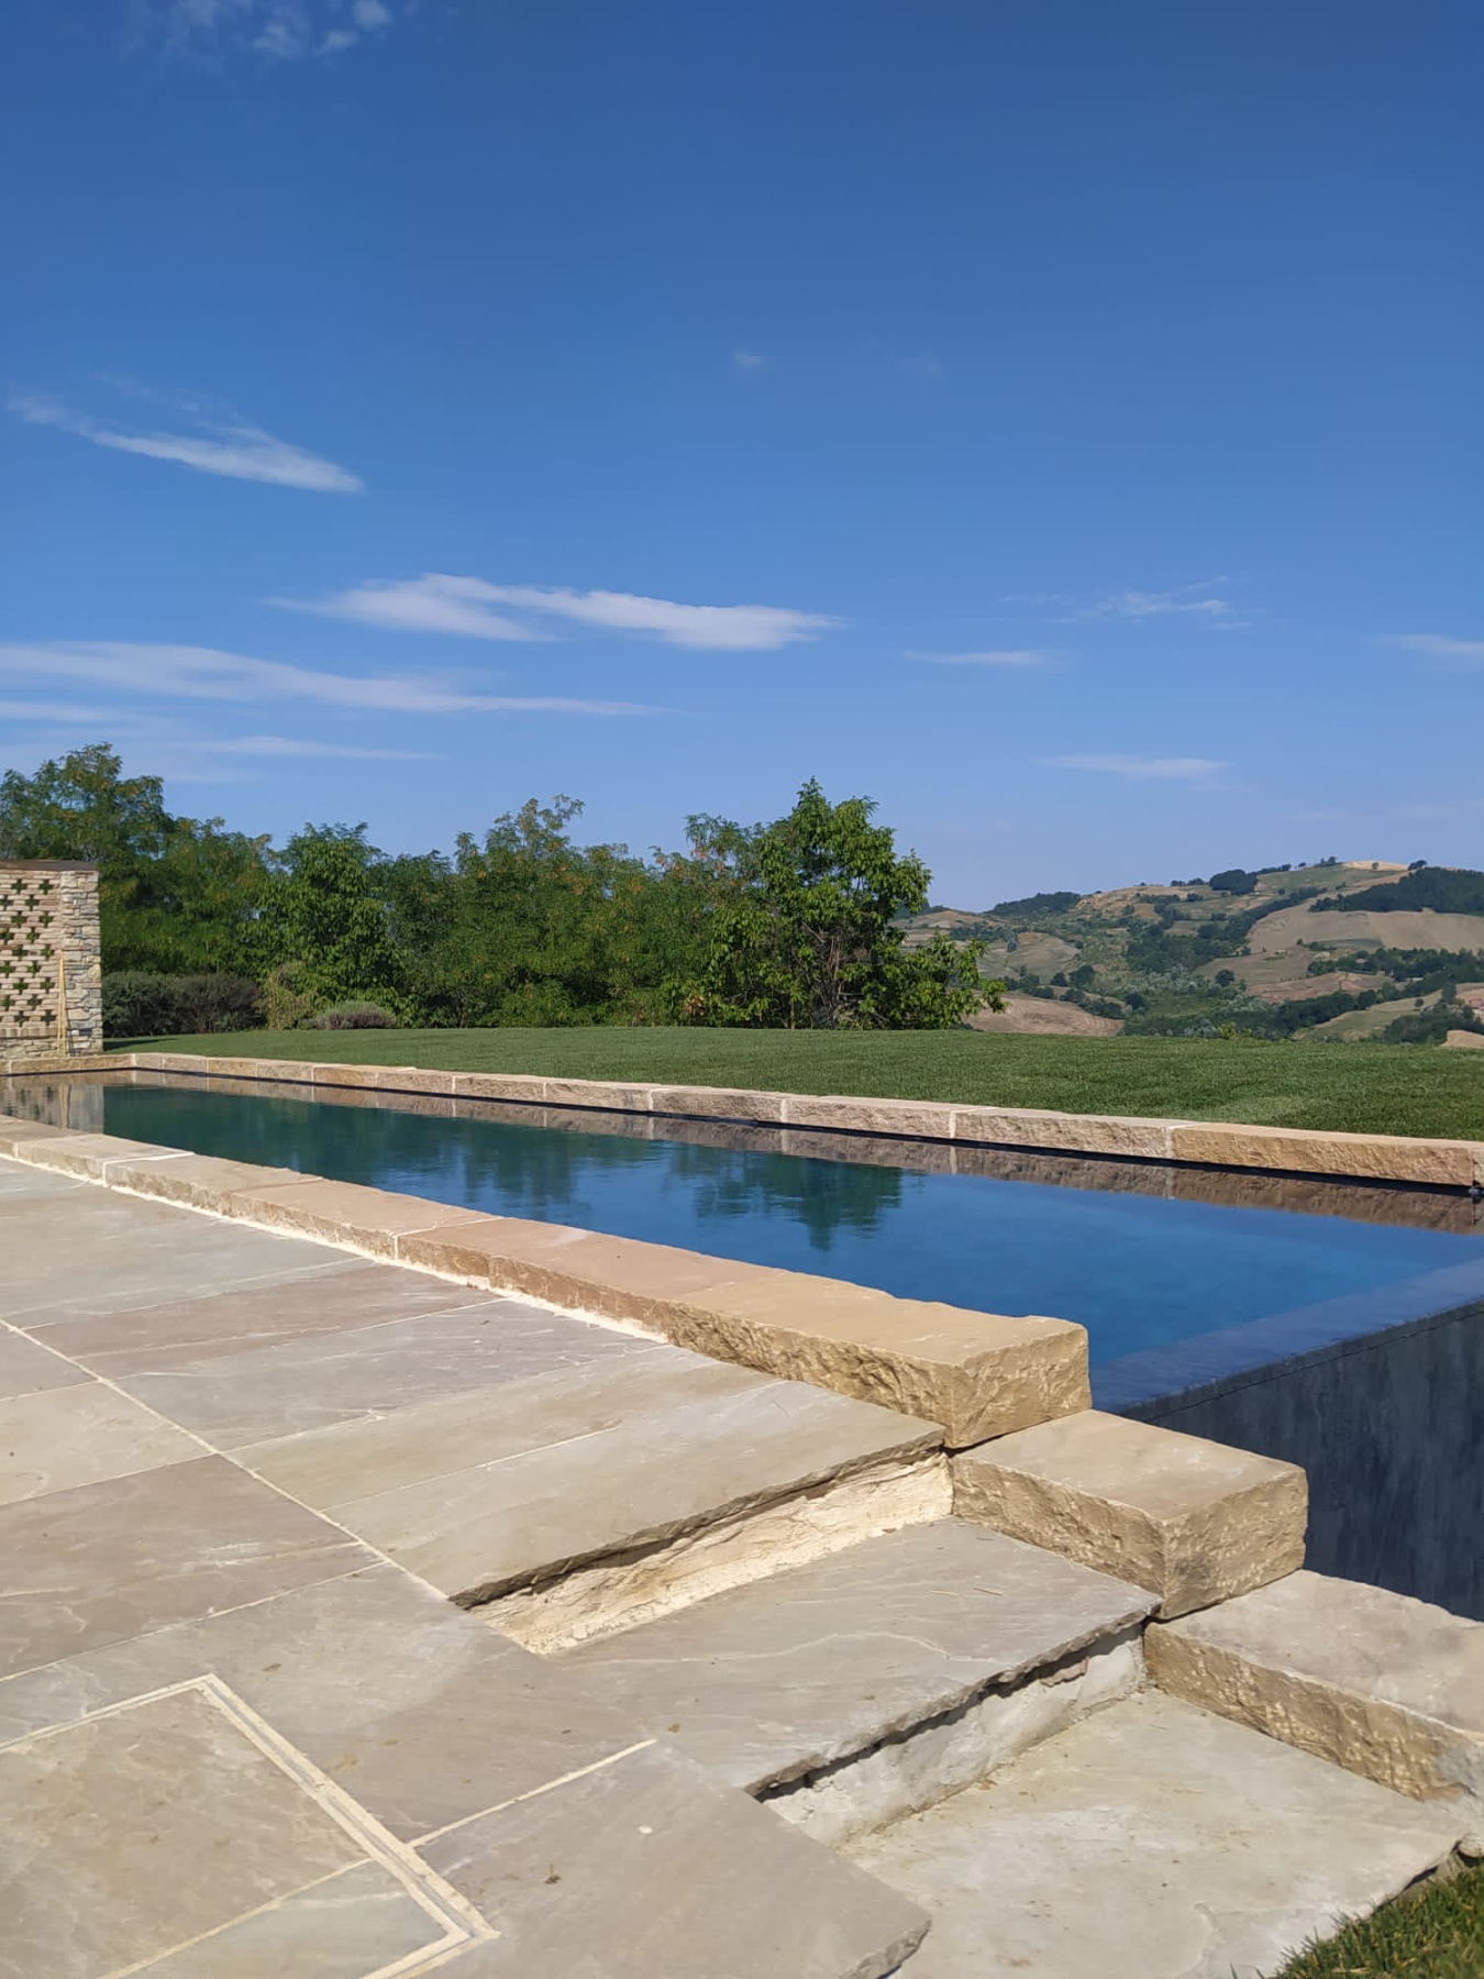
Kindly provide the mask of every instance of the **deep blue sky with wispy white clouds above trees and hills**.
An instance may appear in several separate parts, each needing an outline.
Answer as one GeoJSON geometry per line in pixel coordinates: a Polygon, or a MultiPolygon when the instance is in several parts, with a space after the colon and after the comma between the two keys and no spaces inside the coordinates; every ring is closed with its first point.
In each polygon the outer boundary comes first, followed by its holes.
{"type": "Polygon", "coordinates": [[[1474,0],[12,0],[0,764],[1484,865],[1474,0]]]}

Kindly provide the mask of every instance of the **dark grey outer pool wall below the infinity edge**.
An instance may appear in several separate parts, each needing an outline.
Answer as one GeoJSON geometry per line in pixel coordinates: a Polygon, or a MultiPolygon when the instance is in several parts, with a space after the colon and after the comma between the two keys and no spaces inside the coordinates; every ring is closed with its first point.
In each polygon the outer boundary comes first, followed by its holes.
{"type": "Polygon", "coordinates": [[[1484,1314],[1130,1409],[1308,1470],[1308,1565],[1484,1621],[1484,1314]]]}

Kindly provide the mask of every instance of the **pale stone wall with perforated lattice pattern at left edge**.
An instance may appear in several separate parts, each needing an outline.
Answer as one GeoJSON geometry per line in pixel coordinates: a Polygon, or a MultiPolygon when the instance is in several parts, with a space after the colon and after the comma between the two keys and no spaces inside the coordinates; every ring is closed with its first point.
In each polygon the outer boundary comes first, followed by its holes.
{"type": "Polygon", "coordinates": [[[0,859],[0,1061],[101,1047],[97,867],[0,859]]]}

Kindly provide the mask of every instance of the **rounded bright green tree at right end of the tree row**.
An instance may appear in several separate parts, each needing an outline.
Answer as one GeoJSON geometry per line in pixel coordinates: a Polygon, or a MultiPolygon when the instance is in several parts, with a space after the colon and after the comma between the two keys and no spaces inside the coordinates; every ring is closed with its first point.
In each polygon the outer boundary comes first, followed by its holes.
{"type": "Polygon", "coordinates": [[[942,1029],[1003,984],[979,978],[983,942],[936,932],[906,948],[896,916],[920,914],[928,869],[875,825],[869,798],[829,803],[807,782],[748,847],[748,885],[710,918],[710,954],[683,1003],[693,1023],[780,1029],[942,1029]]]}

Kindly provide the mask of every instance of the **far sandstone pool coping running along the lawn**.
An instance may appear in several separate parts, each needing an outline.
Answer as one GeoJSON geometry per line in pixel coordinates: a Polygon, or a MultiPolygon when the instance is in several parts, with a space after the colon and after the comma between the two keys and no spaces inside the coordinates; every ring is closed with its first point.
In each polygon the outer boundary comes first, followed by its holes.
{"type": "Polygon", "coordinates": [[[372,1088],[443,1098],[505,1100],[627,1114],[742,1120],[756,1126],[819,1128],[966,1146],[1035,1148],[1197,1168],[1290,1176],[1344,1176],[1431,1187],[1484,1187],[1484,1140],[1407,1134],[1334,1134],[1235,1120],[1165,1120],[1070,1114],[1033,1106],[960,1106],[948,1100],[853,1098],[768,1092],[744,1086],[649,1084],[544,1079],[524,1073],[449,1073],[416,1065],[336,1065],[295,1059],[216,1057],[176,1051],[109,1051],[57,1059],[0,1061],[0,1075],[140,1071],[190,1079],[261,1079],[326,1088],[372,1088]]]}

